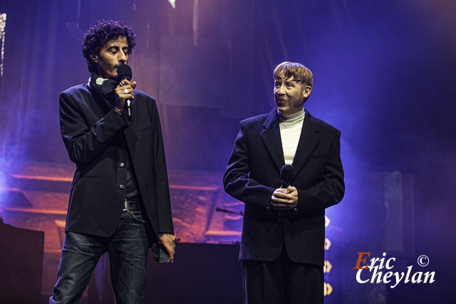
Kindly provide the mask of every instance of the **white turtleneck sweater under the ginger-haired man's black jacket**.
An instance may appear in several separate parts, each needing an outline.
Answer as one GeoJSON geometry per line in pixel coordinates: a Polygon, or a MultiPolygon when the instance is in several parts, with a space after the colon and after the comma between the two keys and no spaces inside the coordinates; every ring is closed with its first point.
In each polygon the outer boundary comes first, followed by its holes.
{"type": "Polygon", "coordinates": [[[293,164],[303,123],[304,108],[300,112],[291,115],[283,115],[279,112],[280,137],[282,149],[284,150],[285,164],[293,164]]]}

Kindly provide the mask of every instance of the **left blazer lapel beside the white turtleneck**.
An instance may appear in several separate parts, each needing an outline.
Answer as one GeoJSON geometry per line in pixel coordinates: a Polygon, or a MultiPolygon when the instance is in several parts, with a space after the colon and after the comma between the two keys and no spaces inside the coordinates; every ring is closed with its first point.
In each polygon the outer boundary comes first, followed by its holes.
{"type": "Polygon", "coordinates": [[[264,121],[264,130],[261,132],[260,137],[261,140],[263,140],[264,146],[266,147],[272,162],[274,162],[277,171],[280,172],[285,161],[280,137],[279,120],[277,119],[276,111],[276,109],[271,111],[264,121]]]}

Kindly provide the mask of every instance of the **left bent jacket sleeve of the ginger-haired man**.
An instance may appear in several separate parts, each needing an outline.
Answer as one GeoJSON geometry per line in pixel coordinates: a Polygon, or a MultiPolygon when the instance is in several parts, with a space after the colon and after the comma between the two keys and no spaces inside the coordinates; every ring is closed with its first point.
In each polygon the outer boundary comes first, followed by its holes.
{"type": "Polygon", "coordinates": [[[250,160],[247,141],[247,132],[241,122],[232,154],[228,160],[227,171],[223,177],[224,189],[229,195],[246,205],[266,209],[275,189],[249,178],[250,160]]]}

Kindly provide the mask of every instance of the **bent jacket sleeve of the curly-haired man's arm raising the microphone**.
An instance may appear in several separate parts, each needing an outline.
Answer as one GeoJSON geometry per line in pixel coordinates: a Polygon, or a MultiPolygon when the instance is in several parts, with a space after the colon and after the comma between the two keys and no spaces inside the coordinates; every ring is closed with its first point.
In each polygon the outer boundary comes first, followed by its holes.
{"type": "Polygon", "coordinates": [[[127,127],[127,122],[114,109],[95,122],[95,125],[86,125],[80,108],[66,92],[60,95],[59,115],[63,143],[71,161],[78,165],[97,157],[109,145],[110,140],[127,127]]]}

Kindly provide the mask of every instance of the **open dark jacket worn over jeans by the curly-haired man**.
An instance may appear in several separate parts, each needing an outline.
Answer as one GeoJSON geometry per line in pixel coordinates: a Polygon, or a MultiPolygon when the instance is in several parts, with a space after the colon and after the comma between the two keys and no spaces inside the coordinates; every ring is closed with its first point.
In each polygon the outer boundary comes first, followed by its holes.
{"type": "Polygon", "coordinates": [[[120,150],[125,135],[155,237],[174,233],[157,105],[140,90],[135,90],[134,96],[128,122],[113,110],[105,95],[87,84],[61,93],[61,134],[68,156],[76,163],[66,231],[96,236],[114,233],[125,201],[127,169],[120,150]]]}

